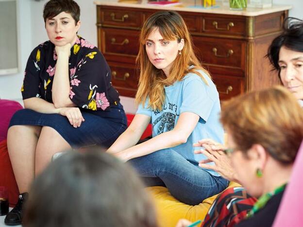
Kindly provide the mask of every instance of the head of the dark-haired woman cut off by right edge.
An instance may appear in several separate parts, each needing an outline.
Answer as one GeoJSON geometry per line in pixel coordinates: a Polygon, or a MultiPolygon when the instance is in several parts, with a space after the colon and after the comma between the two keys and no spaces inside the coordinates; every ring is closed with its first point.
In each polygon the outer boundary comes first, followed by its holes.
{"type": "Polygon", "coordinates": [[[267,56],[283,85],[297,99],[303,99],[303,20],[286,18],[283,27],[283,33],[272,41],[267,56]]]}

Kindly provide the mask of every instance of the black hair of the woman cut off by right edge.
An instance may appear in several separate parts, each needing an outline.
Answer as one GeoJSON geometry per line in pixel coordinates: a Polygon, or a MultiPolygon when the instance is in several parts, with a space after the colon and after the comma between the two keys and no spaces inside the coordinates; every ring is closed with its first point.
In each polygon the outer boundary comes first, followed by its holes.
{"type": "Polygon", "coordinates": [[[269,46],[267,57],[273,70],[279,71],[279,52],[281,47],[303,52],[303,20],[295,17],[287,17],[283,23],[283,32],[276,37],[269,46]]]}

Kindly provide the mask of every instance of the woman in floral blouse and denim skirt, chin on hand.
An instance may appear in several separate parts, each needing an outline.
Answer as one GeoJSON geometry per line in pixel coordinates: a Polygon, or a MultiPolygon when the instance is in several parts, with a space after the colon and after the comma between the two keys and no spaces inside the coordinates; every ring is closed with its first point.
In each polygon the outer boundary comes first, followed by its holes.
{"type": "Polygon", "coordinates": [[[20,192],[7,225],[20,225],[29,185],[51,156],[81,146],[109,147],[126,129],[126,116],[101,52],[78,36],[80,8],[50,0],[43,17],[49,41],[31,53],[21,88],[24,110],[10,122],[7,146],[20,192]]]}

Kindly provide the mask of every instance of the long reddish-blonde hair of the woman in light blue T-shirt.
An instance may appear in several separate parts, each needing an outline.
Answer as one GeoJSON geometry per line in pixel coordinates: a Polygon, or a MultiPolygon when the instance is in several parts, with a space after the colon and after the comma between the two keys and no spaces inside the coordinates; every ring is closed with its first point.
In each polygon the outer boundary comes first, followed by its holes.
{"type": "Polygon", "coordinates": [[[206,79],[198,71],[202,70],[209,78],[208,71],[203,68],[193,51],[191,36],[183,18],[174,11],[159,11],[150,16],[144,23],[140,34],[140,47],[137,56],[137,64],[140,67],[138,91],[136,93],[136,104],[145,104],[149,98],[148,107],[161,111],[165,101],[164,87],[181,81],[189,72],[196,73],[208,85],[206,79]],[[182,54],[177,54],[169,75],[166,76],[162,69],[152,65],[146,52],[146,40],[151,32],[159,29],[164,39],[176,40],[178,43],[184,39],[182,54]],[[194,67],[189,68],[189,66],[194,67]]]}

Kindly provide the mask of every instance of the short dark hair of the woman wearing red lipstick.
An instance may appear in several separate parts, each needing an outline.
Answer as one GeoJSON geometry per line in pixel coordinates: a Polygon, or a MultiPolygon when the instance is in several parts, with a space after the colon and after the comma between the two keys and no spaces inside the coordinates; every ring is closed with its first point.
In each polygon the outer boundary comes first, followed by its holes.
{"type": "Polygon", "coordinates": [[[44,5],[44,22],[62,12],[70,14],[76,24],[80,20],[80,7],[74,0],[50,0],[44,5]]]}

